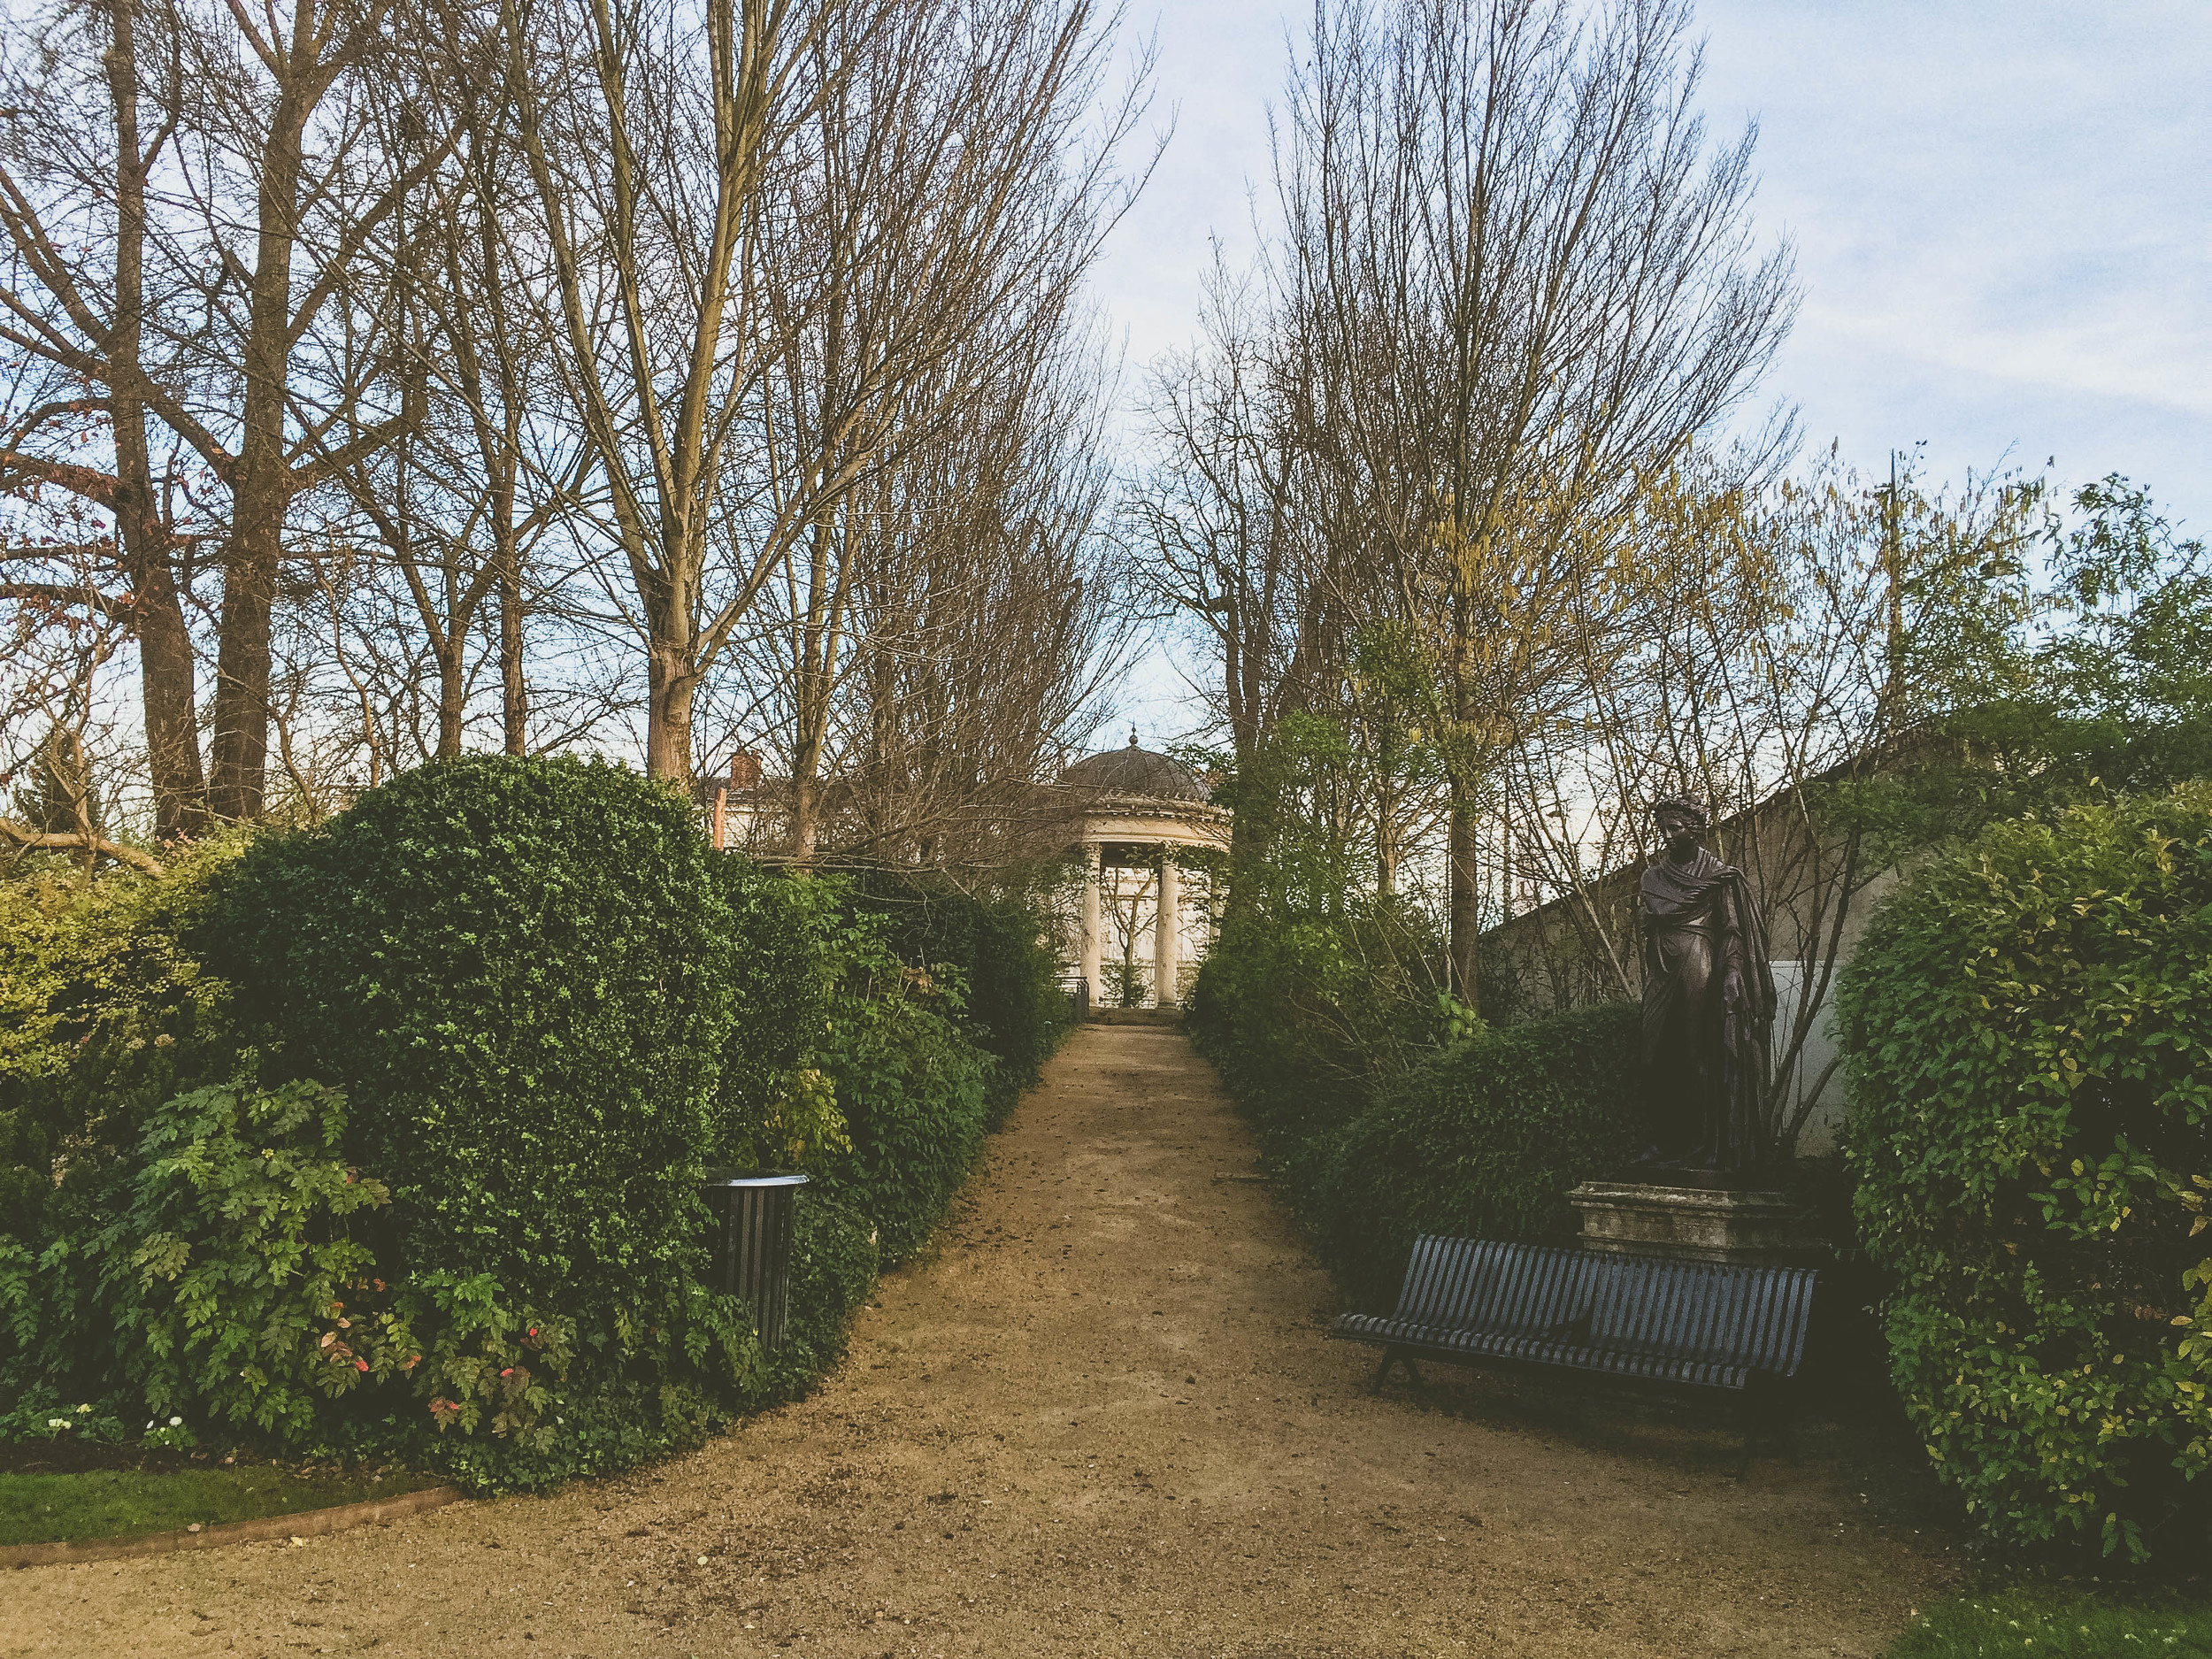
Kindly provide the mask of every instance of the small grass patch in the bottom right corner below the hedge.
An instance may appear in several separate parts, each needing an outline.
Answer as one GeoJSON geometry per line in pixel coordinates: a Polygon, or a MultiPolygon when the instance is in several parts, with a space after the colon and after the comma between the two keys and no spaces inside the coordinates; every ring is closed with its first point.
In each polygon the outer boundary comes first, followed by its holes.
{"type": "Polygon", "coordinates": [[[2212,1659],[2212,1606],[2059,1590],[1969,1595],[1929,1608],[1885,1659],[2212,1659]]]}

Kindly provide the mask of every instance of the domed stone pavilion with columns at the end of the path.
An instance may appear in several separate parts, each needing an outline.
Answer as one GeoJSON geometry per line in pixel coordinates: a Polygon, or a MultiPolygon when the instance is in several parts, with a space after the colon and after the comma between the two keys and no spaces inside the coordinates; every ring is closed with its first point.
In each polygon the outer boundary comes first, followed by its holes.
{"type": "MultiPolygon", "coordinates": [[[[1210,805],[1206,783],[1181,761],[1128,745],[1077,761],[1060,774],[1068,792],[1073,841],[1084,860],[1084,898],[1075,938],[1075,971],[1097,1006],[1110,1004],[1099,980],[1108,922],[1121,933],[1124,960],[1137,956],[1144,905],[1150,900],[1150,1000],[1181,1004],[1181,964],[1206,951],[1212,905],[1186,900],[1179,852],[1225,854],[1232,814],[1210,805]],[[1110,911],[1110,914],[1108,914],[1110,911]]],[[[1210,900],[1210,894],[1206,896],[1210,900]]],[[[1141,969],[1139,969],[1141,971],[1141,969]]]]}

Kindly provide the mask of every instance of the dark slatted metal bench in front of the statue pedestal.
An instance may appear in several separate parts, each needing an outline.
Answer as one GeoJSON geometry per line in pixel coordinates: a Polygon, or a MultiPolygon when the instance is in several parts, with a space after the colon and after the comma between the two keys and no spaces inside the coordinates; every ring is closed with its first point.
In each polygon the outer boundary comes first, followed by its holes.
{"type": "MultiPolygon", "coordinates": [[[[1759,1420],[1796,1376],[1812,1314],[1812,1267],[1739,1267],[1679,1256],[1425,1237],[1394,1314],[1345,1314],[1329,1329],[1394,1365],[1555,1365],[1728,1389],[1741,1400],[1750,1469],[1759,1420]]],[[[1783,1425],[1787,1427],[1787,1425],[1783,1425]]]]}

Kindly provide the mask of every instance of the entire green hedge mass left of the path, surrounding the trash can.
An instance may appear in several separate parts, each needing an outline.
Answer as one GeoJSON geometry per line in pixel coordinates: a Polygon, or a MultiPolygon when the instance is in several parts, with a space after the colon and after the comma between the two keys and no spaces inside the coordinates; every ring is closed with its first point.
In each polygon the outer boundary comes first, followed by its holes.
{"type": "MultiPolygon", "coordinates": [[[[42,883],[0,909],[0,1436],[175,1416],[478,1489],[695,1442],[834,1363],[1004,1066],[880,905],[599,763],[438,763],[159,883],[42,883]],[[816,1177],[776,1354],[701,1283],[728,1164],[816,1177]]],[[[1013,931],[978,964],[1048,989],[1013,931]]]]}

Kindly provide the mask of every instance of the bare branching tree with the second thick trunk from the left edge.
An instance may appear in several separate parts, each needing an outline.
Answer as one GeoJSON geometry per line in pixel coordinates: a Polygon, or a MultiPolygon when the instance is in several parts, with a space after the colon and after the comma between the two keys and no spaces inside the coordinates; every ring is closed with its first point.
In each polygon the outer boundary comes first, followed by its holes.
{"type": "MultiPolygon", "coordinates": [[[[389,363],[376,349],[332,352],[316,332],[374,319],[363,254],[451,144],[451,133],[429,133],[403,166],[387,166],[394,157],[374,144],[363,95],[365,77],[422,73],[436,35],[414,29],[403,55],[394,29],[414,20],[392,0],[303,0],[290,15],[259,18],[161,0],[106,18],[106,40],[82,35],[77,49],[128,42],[106,73],[117,173],[69,170],[51,144],[22,139],[27,164],[0,175],[0,226],[20,272],[0,290],[9,319],[0,338],[122,398],[126,469],[137,465],[144,411],[228,495],[208,803],[221,818],[250,818],[265,801],[270,624],[292,504],[411,414],[400,398],[361,420],[389,363]],[[137,126],[148,55],[166,88],[153,139],[137,126]],[[66,226],[106,217],[115,186],[119,230],[73,241],[66,226]],[[157,301],[146,294],[155,257],[157,301]],[[155,367],[148,327],[164,336],[155,367]],[[332,451],[323,436],[338,420],[352,420],[356,436],[332,451]]],[[[126,511],[144,518],[148,495],[119,482],[126,511]]],[[[164,732],[173,701],[170,686],[164,732]]],[[[168,737],[159,743],[175,748],[168,737]]]]}

